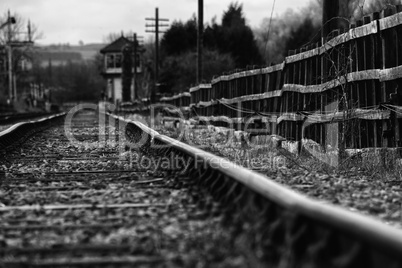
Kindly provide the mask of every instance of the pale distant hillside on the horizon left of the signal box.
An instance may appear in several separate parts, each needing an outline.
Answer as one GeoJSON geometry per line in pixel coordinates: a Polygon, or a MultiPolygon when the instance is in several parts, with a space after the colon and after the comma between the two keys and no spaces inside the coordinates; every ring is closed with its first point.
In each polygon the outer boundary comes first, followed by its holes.
{"type": "Polygon", "coordinates": [[[35,47],[34,57],[40,65],[47,66],[66,64],[68,61],[81,62],[91,60],[105,46],[105,44],[87,44],[82,46],[48,45],[35,47]]]}

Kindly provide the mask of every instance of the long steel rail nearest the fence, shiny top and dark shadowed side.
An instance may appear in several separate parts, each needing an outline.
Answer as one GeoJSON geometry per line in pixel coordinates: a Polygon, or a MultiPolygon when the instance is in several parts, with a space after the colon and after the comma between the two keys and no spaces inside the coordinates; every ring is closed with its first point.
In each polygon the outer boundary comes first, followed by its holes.
{"type": "Polygon", "coordinates": [[[260,242],[269,245],[265,249],[271,251],[267,254],[273,264],[402,267],[402,231],[374,218],[305,197],[266,176],[160,135],[140,122],[109,116],[126,125],[126,136],[134,142],[132,148],[153,152],[155,156],[173,152],[191,158],[189,172],[194,173],[191,178],[199,180],[199,185],[206,186],[219,200],[244,201],[245,210],[249,210],[244,215],[263,220],[261,236],[267,236],[268,241],[260,242]],[[254,205],[262,207],[262,212],[255,211],[254,205]]]}

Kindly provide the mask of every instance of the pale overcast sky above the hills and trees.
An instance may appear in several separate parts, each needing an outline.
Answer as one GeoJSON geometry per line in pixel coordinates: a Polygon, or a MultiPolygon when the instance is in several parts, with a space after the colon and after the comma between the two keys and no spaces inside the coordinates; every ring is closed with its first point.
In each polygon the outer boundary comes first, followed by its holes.
{"type": "MultiPolygon", "coordinates": [[[[274,14],[280,15],[286,9],[298,9],[309,0],[277,0],[274,14]]],[[[222,14],[233,0],[204,0],[204,22],[216,16],[220,22],[222,14]]],[[[251,27],[260,26],[263,18],[271,15],[274,0],[245,0],[243,11],[251,27]]],[[[100,43],[109,33],[145,33],[145,18],[155,16],[187,21],[197,13],[197,0],[1,0],[0,12],[4,17],[7,10],[30,19],[43,33],[39,44],[100,43]]],[[[0,22],[1,23],[1,22],[0,22]]]]}

